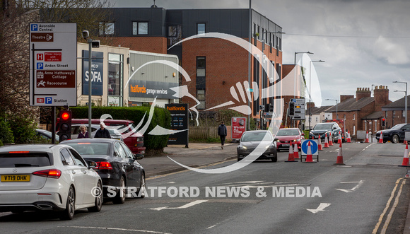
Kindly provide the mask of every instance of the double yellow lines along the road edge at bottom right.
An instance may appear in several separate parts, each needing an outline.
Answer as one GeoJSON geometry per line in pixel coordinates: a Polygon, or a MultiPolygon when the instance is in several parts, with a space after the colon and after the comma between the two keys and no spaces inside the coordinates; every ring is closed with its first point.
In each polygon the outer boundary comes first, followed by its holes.
{"type": "Polygon", "coordinates": [[[386,215],[386,213],[387,213],[387,210],[389,209],[390,204],[392,203],[392,200],[393,200],[394,196],[396,195],[397,187],[400,185],[399,192],[397,192],[396,199],[394,199],[394,204],[393,204],[393,206],[392,206],[392,209],[390,209],[390,212],[389,212],[389,214],[387,215],[387,218],[386,218],[386,220],[385,220],[385,225],[382,227],[382,230],[380,230],[380,233],[382,233],[382,234],[386,233],[387,227],[389,226],[389,223],[390,223],[390,221],[392,220],[392,216],[393,216],[394,210],[396,209],[397,204],[399,204],[399,197],[400,197],[400,195],[402,194],[403,186],[404,186],[405,184],[406,184],[406,177],[402,177],[402,178],[399,178],[398,180],[396,180],[396,186],[394,186],[394,189],[393,189],[393,191],[392,191],[392,194],[390,195],[389,201],[387,201],[385,210],[384,210],[383,213],[380,215],[379,221],[377,222],[377,224],[376,224],[376,226],[375,226],[375,229],[373,229],[372,234],[376,234],[376,233],[377,233],[377,230],[379,230],[380,224],[382,224],[382,220],[383,220],[383,218],[385,217],[385,215],[386,215]],[[402,180],[401,183],[400,183],[400,180],[402,180]],[[401,185],[400,185],[400,184],[401,184],[401,185]]]}

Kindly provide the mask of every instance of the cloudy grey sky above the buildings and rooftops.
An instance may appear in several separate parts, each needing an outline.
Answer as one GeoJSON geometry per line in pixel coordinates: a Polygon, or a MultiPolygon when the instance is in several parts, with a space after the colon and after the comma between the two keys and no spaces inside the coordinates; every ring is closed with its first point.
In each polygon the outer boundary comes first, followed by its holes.
{"type": "MultiPolygon", "coordinates": [[[[112,0],[114,7],[150,7],[148,0],[112,0]]],[[[249,8],[249,0],[156,0],[166,9],[249,8]]],[[[356,95],[357,88],[387,86],[389,100],[404,97],[410,83],[409,0],[259,0],[252,8],[282,27],[283,64],[295,52],[313,52],[325,99],[356,95]],[[373,86],[372,86],[373,85],[373,86]]],[[[300,59],[300,54],[297,55],[300,59]]]]}

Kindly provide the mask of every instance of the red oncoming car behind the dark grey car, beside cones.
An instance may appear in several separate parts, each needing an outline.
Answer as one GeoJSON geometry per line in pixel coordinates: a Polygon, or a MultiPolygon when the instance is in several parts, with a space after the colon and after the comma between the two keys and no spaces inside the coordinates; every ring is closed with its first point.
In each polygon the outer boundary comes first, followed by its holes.
{"type": "Polygon", "coordinates": [[[305,134],[298,128],[279,129],[275,138],[279,139],[276,141],[276,148],[278,151],[281,149],[286,149],[286,151],[289,151],[289,146],[293,146],[294,144],[298,144],[298,150],[300,151],[300,140],[305,139],[305,134]]]}

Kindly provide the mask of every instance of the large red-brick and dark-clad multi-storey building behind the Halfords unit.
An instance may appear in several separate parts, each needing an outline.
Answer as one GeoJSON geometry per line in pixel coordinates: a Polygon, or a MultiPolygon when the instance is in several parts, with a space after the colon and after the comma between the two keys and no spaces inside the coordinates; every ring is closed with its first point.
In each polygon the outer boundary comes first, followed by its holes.
{"type": "MultiPolygon", "coordinates": [[[[262,93],[262,88],[271,84],[262,72],[262,65],[257,59],[249,57],[246,49],[228,40],[213,37],[182,41],[202,33],[225,33],[249,42],[251,35],[252,45],[261,50],[264,48],[267,59],[262,62],[262,58],[259,58],[259,61],[265,65],[271,63],[281,77],[282,28],[257,11],[247,8],[168,10],[156,6],[109,10],[110,18],[115,20],[100,22],[100,36],[112,37],[112,46],[177,55],[180,66],[191,79],[187,81],[180,76],[180,85],[186,85],[189,93],[200,101],[197,109],[207,110],[228,101],[235,103],[224,107],[229,108],[247,105],[250,101],[251,116],[259,118],[259,105],[273,103],[272,98],[262,99],[261,95],[256,94],[262,93]],[[251,76],[250,83],[258,84],[258,87],[250,86],[254,89],[251,97],[242,93],[246,93],[244,82],[248,81],[248,74],[251,76]],[[232,89],[239,98],[231,95],[232,89]]],[[[188,97],[182,98],[182,103],[189,103],[190,107],[197,105],[188,97]]]]}

